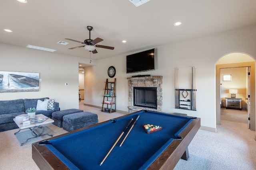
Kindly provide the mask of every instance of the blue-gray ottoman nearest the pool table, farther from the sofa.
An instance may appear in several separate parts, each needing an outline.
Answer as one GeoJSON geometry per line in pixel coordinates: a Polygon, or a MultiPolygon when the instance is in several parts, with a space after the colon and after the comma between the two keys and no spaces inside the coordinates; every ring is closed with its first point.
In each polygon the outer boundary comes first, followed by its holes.
{"type": "Polygon", "coordinates": [[[63,129],[69,132],[96,123],[98,123],[98,115],[88,111],[64,115],[62,122],[63,129]]]}

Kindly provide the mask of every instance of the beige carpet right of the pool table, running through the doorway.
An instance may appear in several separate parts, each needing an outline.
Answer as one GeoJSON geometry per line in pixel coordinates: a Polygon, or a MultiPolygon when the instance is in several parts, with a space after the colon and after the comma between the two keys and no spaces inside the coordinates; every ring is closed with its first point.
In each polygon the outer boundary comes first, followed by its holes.
{"type": "Polygon", "coordinates": [[[247,128],[246,111],[221,109],[217,131],[199,130],[188,146],[190,158],[175,170],[256,170],[255,131],[247,128]]]}

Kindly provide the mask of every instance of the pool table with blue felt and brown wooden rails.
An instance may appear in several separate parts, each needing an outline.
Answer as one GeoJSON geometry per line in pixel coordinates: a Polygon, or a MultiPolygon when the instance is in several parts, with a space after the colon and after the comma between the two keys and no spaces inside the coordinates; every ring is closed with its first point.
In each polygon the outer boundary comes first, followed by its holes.
{"type": "Polygon", "coordinates": [[[199,128],[200,118],[197,117],[136,111],[33,143],[32,158],[40,169],[170,170],[180,158],[188,159],[188,145],[199,128]],[[124,131],[131,119],[134,121],[124,131]],[[162,130],[148,134],[144,124],[159,125],[162,130]]]}

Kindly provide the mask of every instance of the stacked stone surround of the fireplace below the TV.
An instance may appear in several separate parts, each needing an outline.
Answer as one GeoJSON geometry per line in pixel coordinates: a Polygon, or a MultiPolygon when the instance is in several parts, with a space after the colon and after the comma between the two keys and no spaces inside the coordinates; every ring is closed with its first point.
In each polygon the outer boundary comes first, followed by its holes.
{"type": "Polygon", "coordinates": [[[128,89],[129,89],[129,113],[134,111],[139,111],[143,109],[162,111],[163,104],[163,76],[147,76],[147,77],[131,77],[128,79],[128,89]],[[157,90],[157,109],[152,109],[148,107],[138,107],[133,106],[133,88],[134,87],[156,87],[157,90]]]}

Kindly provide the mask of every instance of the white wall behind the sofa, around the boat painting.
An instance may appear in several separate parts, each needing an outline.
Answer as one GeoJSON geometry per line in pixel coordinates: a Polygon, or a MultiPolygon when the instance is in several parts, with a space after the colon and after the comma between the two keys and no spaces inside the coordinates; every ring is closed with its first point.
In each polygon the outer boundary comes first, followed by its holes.
{"type": "MultiPolygon", "coordinates": [[[[0,70],[38,72],[39,92],[0,93],[0,100],[49,97],[60,103],[60,109],[78,108],[78,63],[89,63],[80,57],[0,44],[0,70]],[[65,86],[68,83],[68,86],[65,86]]],[[[93,61],[95,63],[95,61],[93,61]]]]}

